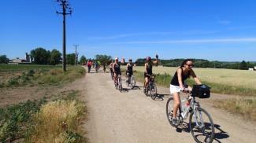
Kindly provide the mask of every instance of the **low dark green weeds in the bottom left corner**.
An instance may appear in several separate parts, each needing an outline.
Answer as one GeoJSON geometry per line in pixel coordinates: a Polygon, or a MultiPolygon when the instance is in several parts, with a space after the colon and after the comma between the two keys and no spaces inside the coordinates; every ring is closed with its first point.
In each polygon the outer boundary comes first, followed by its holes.
{"type": "Polygon", "coordinates": [[[32,115],[39,111],[45,103],[45,98],[40,101],[26,101],[7,108],[0,108],[0,141],[13,141],[25,138],[32,124],[32,115]]]}

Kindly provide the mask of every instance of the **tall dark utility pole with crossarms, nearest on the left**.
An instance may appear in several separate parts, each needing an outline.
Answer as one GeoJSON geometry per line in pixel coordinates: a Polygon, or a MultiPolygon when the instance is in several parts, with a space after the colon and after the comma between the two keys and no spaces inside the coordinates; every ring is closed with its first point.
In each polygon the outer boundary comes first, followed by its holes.
{"type": "Polygon", "coordinates": [[[67,0],[57,0],[59,2],[59,6],[62,8],[62,12],[56,11],[58,14],[63,15],[63,49],[62,49],[62,69],[63,72],[66,71],[66,33],[65,33],[65,16],[72,13],[72,9],[69,7],[69,3],[67,0]],[[67,13],[68,11],[68,13],[67,13]]]}

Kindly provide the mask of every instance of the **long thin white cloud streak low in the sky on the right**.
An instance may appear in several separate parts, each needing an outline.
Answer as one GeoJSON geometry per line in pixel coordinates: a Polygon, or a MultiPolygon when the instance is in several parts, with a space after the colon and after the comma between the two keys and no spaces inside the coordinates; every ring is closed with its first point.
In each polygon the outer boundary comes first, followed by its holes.
{"type": "Polygon", "coordinates": [[[214,38],[214,39],[188,39],[188,40],[165,40],[165,41],[130,41],[109,42],[106,44],[173,44],[173,43],[223,43],[223,42],[256,42],[256,38],[214,38]]]}

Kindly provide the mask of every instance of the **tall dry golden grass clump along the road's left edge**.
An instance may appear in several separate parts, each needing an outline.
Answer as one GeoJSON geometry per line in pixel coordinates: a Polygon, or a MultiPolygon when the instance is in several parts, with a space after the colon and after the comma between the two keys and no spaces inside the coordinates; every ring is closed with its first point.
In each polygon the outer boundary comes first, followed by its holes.
{"type": "Polygon", "coordinates": [[[85,107],[79,101],[51,101],[35,116],[35,130],[29,142],[81,142],[76,133],[85,107]]]}

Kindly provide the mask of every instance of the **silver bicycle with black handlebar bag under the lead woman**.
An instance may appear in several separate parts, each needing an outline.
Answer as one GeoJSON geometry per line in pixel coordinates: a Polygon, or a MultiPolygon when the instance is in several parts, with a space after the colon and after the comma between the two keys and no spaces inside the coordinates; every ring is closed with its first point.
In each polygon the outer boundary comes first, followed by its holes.
{"type": "MultiPolygon", "coordinates": [[[[172,98],[169,98],[166,104],[166,116],[169,123],[173,127],[183,125],[184,120],[189,116],[189,129],[196,142],[212,142],[215,136],[213,119],[205,109],[201,108],[198,101],[195,101],[195,97],[207,98],[210,97],[210,90],[198,90],[197,86],[203,86],[205,89],[206,85],[195,85],[193,90],[188,92],[187,98],[181,101],[180,107],[176,115],[177,124],[173,123],[173,105],[170,103],[172,98]],[[186,107],[185,102],[190,101],[190,104],[186,107]],[[198,133],[198,134],[197,134],[198,133]],[[201,141],[202,139],[202,141],[201,141]]],[[[210,87],[209,87],[210,89],[210,87]]]]}

